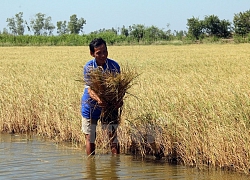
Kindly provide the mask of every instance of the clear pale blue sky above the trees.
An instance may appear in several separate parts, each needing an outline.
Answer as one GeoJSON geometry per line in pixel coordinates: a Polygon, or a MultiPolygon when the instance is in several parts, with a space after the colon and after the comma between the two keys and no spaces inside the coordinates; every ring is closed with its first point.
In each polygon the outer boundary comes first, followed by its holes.
{"type": "Polygon", "coordinates": [[[1,0],[0,9],[1,32],[8,28],[7,18],[19,12],[28,23],[35,14],[43,13],[52,18],[54,26],[76,14],[86,20],[84,34],[133,24],[186,31],[187,19],[192,17],[203,20],[216,15],[233,22],[235,14],[250,10],[250,0],[1,0]]]}

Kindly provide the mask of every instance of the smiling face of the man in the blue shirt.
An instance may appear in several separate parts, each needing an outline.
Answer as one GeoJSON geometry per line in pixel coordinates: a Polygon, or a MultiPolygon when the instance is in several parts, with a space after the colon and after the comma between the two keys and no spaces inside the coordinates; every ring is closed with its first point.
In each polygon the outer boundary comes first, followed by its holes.
{"type": "Polygon", "coordinates": [[[107,47],[105,46],[105,44],[102,44],[95,48],[94,53],[90,51],[90,55],[96,59],[96,63],[98,66],[102,66],[103,64],[105,64],[108,57],[107,47]]]}

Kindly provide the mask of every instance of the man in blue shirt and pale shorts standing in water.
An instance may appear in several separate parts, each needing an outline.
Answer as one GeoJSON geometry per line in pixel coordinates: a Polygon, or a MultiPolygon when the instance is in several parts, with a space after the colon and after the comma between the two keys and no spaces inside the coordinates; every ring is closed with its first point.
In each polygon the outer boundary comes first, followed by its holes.
{"type": "MultiPolygon", "coordinates": [[[[97,38],[89,44],[90,55],[94,58],[88,61],[84,66],[84,79],[85,82],[89,81],[88,73],[98,67],[102,67],[104,71],[120,73],[120,66],[114,60],[108,59],[108,49],[106,42],[102,38],[97,38]]],[[[101,116],[101,108],[106,106],[97,93],[94,92],[89,86],[85,85],[84,93],[82,96],[82,131],[86,138],[86,152],[87,155],[95,154],[95,139],[96,139],[96,125],[101,116]]],[[[122,103],[119,105],[121,106],[122,103]]],[[[119,108],[117,106],[117,108],[119,108]]],[[[118,110],[114,110],[115,117],[118,118],[118,110]]],[[[105,118],[105,117],[104,117],[105,118]]],[[[117,121],[116,121],[117,122],[117,121]]],[[[102,124],[104,125],[104,124],[102,124]]],[[[117,124],[110,124],[109,138],[111,141],[112,154],[119,154],[119,143],[116,137],[117,124]]],[[[104,126],[103,126],[104,127],[104,126]]],[[[107,127],[107,126],[105,126],[107,127]]]]}

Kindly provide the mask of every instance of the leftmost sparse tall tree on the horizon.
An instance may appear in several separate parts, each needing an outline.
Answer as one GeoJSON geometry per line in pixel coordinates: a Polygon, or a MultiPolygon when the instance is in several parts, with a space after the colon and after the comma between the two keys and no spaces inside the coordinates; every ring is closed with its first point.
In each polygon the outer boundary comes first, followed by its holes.
{"type": "Polygon", "coordinates": [[[23,12],[19,12],[15,15],[15,17],[7,18],[8,27],[12,34],[14,35],[23,35],[24,34],[24,20],[23,20],[23,12]]]}

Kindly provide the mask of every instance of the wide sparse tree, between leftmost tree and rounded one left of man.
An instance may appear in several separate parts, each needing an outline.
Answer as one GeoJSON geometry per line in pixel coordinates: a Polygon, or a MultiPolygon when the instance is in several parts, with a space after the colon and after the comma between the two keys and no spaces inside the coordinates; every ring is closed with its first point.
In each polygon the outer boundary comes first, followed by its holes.
{"type": "Polygon", "coordinates": [[[50,16],[46,17],[45,14],[37,13],[35,19],[30,21],[34,35],[52,35],[55,26],[52,24],[50,16]]]}

